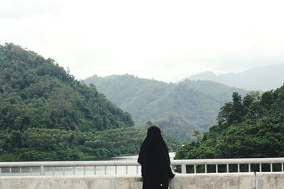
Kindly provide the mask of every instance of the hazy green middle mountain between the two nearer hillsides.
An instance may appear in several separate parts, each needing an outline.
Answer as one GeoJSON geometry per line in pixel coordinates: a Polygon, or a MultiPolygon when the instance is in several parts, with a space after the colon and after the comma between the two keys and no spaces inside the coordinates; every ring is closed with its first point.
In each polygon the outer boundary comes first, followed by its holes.
{"type": "Polygon", "coordinates": [[[231,99],[231,93],[247,93],[212,81],[186,79],[167,84],[129,74],[94,75],[84,82],[94,84],[99,92],[131,113],[137,126],[150,120],[180,141],[189,139],[194,130],[203,132],[214,125],[219,108],[231,99]]]}

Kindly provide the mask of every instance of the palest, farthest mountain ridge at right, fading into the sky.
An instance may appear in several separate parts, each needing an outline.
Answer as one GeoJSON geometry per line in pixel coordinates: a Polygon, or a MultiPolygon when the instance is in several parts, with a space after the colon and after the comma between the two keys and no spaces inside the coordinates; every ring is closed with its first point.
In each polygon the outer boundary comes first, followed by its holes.
{"type": "Polygon", "coordinates": [[[216,81],[228,86],[246,88],[247,90],[267,91],[275,89],[284,83],[284,64],[248,69],[240,73],[216,75],[205,71],[192,75],[188,79],[216,81]]]}

